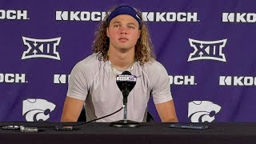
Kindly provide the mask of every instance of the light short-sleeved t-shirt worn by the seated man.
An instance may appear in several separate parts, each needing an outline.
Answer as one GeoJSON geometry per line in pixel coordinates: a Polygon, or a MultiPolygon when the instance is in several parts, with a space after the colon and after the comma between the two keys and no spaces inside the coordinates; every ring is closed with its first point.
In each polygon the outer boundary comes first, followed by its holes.
{"type": "MultiPolygon", "coordinates": [[[[157,61],[147,62],[143,66],[134,62],[132,67],[130,73],[137,76],[137,81],[128,96],[127,119],[146,122],[150,96],[153,96],[155,104],[172,100],[169,77],[166,69],[157,61]]],[[[122,71],[118,73],[122,74],[122,71]]],[[[122,107],[122,92],[116,84],[110,62],[99,61],[97,54],[91,54],[74,66],[67,96],[85,100],[87,121],[111,114],[122,107]]],[[[123,117],[121,110],[97,122],[114,122],[123,117]]]]}

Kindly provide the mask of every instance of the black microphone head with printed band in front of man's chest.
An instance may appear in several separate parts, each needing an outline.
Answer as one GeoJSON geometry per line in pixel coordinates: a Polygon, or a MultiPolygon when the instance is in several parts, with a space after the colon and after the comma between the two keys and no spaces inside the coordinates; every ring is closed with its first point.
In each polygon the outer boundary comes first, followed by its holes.
{"type": "Polygon", "coordinates": [[[116,82],[118,84],[119,90],[122,91],[124,101],[126,102],[130,91],[134,89],[136,78],[137,77],[135,75],[131,75],[129,71],[124,71],[122,74],[117,75],[116,82]]]}

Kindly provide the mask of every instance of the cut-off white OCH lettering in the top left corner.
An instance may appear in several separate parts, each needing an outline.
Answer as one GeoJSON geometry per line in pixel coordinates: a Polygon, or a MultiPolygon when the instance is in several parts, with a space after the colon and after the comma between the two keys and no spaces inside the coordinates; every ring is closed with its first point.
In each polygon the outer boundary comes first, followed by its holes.
{"type": "Polygon", "coordinates": [[[26,10],[0,10],[0,19],[30,19],[26,10]]]}

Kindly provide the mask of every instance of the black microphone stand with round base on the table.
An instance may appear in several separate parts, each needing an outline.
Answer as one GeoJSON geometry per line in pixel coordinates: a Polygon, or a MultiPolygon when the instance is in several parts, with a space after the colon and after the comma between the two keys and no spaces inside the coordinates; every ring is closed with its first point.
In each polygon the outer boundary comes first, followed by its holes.
{"type": "Polygon", "coordinates": [[[127,119],[127,97],[129,94],[129,91],[124,90],[122,92],[123,94],[123,104],[125,105],[124,110],[123,110],[123,120],[119,120],[116,122],[111,122],[110,126],[114,127],[138,127],[140,126],[139,122],[131,121],[127,119]]]}

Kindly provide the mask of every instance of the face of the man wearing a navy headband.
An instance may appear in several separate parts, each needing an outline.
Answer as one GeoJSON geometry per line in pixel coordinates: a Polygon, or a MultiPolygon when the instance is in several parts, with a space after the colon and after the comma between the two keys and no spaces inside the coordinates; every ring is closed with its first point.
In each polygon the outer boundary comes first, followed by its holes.
{"type": "Polygon", "coordinates": [[[141,31],[138,22],[133,17],[122,14],[110,21],[106,34],[110,38],[110,48],[125,52],[134,49],[141,31]]]}

